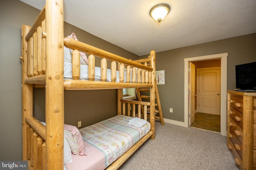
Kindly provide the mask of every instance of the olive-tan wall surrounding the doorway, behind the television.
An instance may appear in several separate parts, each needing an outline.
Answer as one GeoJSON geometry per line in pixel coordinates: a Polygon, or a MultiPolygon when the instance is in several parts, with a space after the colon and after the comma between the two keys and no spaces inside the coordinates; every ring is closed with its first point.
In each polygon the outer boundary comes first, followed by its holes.
{"type": "Polygon", "coordinates": [[[234,90],[235,65],[256,61],[255,46],[256,33],[253,33],[156,53],[156,70],[165,70],[165,85],[158,86],[164,118],[184,122],[185,58],[228,53],[227,89],[234,90]],[[173,108],[173,113],[169,108],[173,108]]]}

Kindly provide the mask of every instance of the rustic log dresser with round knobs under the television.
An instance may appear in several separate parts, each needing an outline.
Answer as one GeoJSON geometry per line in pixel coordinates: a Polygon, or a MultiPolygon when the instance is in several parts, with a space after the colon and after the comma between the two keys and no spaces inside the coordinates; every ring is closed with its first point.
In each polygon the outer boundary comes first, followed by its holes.
{"type": "Polygon", "coordinates": [[[243,170],[256,170],[256,93],[228,90],[227,146],[243,170]]]}

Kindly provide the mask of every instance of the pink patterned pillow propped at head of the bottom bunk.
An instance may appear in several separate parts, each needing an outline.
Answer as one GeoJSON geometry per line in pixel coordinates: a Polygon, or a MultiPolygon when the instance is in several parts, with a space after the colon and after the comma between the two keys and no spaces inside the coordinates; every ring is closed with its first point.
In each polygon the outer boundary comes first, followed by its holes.
{"type": "Polygon", "coordinates": [[[64,136],[73,154],[86,155],[84,141],[77,127],[64,124],[64,136]]]}

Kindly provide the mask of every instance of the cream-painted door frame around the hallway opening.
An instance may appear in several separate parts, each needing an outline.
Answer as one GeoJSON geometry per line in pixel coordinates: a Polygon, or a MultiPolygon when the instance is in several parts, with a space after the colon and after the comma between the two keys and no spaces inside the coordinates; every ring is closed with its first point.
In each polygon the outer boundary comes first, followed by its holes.
{"type": "Polygon", "coordinates": [[[221,59],[220,70],[220,133],[227,135],[227,57],[228,53],[205,55],[200,57],[190,57],[184,59],[184,126],[188,127],[188,68],[189,62],[210,59],[221,59]]]}

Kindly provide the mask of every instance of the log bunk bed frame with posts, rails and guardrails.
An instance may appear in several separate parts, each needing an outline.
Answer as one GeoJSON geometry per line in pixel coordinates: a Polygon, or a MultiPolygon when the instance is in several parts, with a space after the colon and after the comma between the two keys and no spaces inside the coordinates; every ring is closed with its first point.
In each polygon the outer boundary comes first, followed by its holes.
{"type": "MultiPolygon", "coordinates": [[[[46,0],[46,5],[34,25],[32,27],[22,25],[22,57],[20,59],[22,60],[22,159],[28,160],[28,169],[63,170],[66,168],[64,166],[66,137],[64,133],[66,126],[64,124],[64,89],[117,89],[117,116],[131,116],[127,118],[128,120],[135,117],[135,114],[138,114],[140,118],[141,108],[144,108],[144,119],[147,120],[146,109],[150,107],[150,123],[144,125],[149,126],[149,131],[122,156],[116,156],[117,160],[113,160],[113,163],[110,162],[111,164],[103,169],[119,168],[147,139],[154,139],[155,51],[150,51],[148,59],[131,61],[80,41],[64,38],[63,0],[46,0]],[[72,52],[72,80],[64,78],[64,46],[74,50],[72,52]],[[90,55],[88,57],[88,80],[80,79],[80,52],[90,55]],[[94,80],[95,56],[102,58],[101,80],[94,80]],[[107,81],[106,72],[109,70],[107,60],[111,62],[110,82],[107,81]],[[117,68],[118,71],[116,71],[117,68]],[[119,73],[118,82],[116,82],[117,72],[119,73]],[[45,125],[33,116],[33,87],[46,89],[45,125]],[[122,88],[150,88],[150,102],[123,100],[122,88]],[[130,113],[130,106],[132,106],[132,113],[130,113]],[[137,112],[135,108],[138,108],[137,112]]],[[[78,136],[78,133],[76,135],[78,136]]]]}

